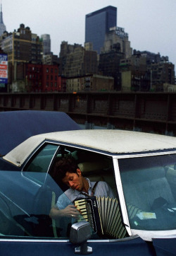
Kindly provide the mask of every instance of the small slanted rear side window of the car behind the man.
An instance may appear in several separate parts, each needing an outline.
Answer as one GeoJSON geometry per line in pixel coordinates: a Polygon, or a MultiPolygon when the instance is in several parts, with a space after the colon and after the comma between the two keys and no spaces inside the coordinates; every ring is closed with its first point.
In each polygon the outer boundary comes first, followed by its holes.
{"type": "Polygon", "coordinates": [[[34,154],[23,169],[23,175],[34,182],[44,184],[46,173],[57,149],[58,145],[54,144],[42,146],[42,149],[34,154]]]}

